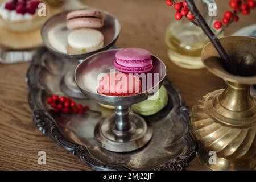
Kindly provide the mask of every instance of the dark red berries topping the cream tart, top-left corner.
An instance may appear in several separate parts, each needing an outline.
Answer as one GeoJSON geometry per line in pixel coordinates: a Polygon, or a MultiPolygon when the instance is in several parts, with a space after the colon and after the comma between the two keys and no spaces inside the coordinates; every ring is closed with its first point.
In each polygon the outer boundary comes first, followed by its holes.
{"type": "Polygon", "coordinates": [[[16,10],[18,14],[35,14],[39,3],[38,0],[10,0],[5,4],[5,9],[16,10]]]}

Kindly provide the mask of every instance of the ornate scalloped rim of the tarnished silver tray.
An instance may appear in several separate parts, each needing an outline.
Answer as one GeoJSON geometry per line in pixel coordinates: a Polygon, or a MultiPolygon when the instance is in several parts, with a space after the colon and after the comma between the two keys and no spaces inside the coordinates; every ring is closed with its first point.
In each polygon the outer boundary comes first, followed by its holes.
{"type": "MultiPolygon", "coordinates": [[[[63,136],[59,128],[55,125],[55,122],[51,117],[51,115],[49,115],[44,110],[42,101],[35,99],[36,96],[41,95],[42,90],[44,90],[43,86],[40,85],[38,81],[38,74],[36,74],[36,71],[37,71],[36,68],[38,68],[40,65],[40,60],[36,59],[36,57],[40,55],[41,52],[44,52],[44,51],[46,51],[45,47],[38,48],[36,50],[35,55],[33,56],[33,59],[31,61],[30,67],[28,68],[27,76],[26,76],[27,84],[28,84],[28,104],[31,107],[32,118],[36,127],[38,127],[38,129],[42,131],[43,134],[47,134],[50,138],[52,138],[53,141],[57,143],[59,146],[63,147],[67,151],[72,152],[73,155],[79,156],[82,163],[86,164],[86,166],[89,166],[96,170],[117,170],[117,171],[131,170],[130,168],[124,165],[109,167],[107,166],[107,164],[102,163],[96,158],[94,158],[90,154],[90,151],[88,150],[88,148],[86,148],[86,146],[80,146],[79,144],[69,142],[68,139],[66,139],[63,136]]],[[[165,80],[165,81],[169,81],[169,80],[165,80]]],[[[191,129],[189,125],[190,119],[189,119],[188,107],[185,106],[183,98],[180,96],[179,92],[177,92],[174,86],[172,86],[171,89],[173,89],[178,96],[178,98],[176,99],[179,102],[179,106],[175,108],[175,111],[183,117],[184,122],[186,123],[186,125],[188,125],[188,134],[185,135],[184,138],[189,143],[190,150],[188,150],[187,154],[183,156],[178,156],[177,158],[172,159],[166,163],[163,163],[159,167],[152,169],[156,171],[184,170],[188,168],[189,163],[195,158],[198,150],[198,145],[195,141],[195,138],[191,134],[191,129]]]]}

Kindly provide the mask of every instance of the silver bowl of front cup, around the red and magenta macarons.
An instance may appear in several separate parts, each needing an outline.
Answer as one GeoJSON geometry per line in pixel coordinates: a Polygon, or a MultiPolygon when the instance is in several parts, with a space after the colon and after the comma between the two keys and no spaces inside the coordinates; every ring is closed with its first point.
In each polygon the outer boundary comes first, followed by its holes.
{"type": "Polygon", "coordinates": [[[106,96],[97,93],[98,75],[101,73],[109,73],[110,69],[114,69],[113,60],[115,60],[115,53],[119,50],[121,49],[111,49],[96,53],[80,63],[75,70],[75,81],[81,92],[101,104],[115,106],[133,105],[144,101],[151,95],[151,90],[154,89],[154,87],[159,86],[160,88],[163,78],[166,76],[166,66],[158,57],[152,55],[153,68],[147,73],[158,73],[159,81],[155,82],[154,79],[152,79],[151,88],[147,90],[142,89],[141,93],[134,94],[133,96],[106,96]]]}

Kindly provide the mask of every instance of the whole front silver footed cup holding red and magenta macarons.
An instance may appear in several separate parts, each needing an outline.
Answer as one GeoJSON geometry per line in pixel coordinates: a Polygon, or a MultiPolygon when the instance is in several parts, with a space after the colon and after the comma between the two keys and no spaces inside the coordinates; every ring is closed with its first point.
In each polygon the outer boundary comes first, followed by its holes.
{"type": "Polygon", "coordinates": [[[145,146],[152,137],[152,128],[137,114],[129,112],[129,106],[146,100],[154,88],[162,86],[166,76],[164,63],[152,55],[153,69],[148,72],[158,73],[159,80],[152,79],[152,87],[133,96],[106,96],[97,93],[98,75],[114,69],[115,53],[112,49],[96,53],[80,63],[75,71],[75,81],[86,97],[105,105],[115,106],[115,113],[98,121],[94,137],[98,144],[113,152],[130,152],[145,146]]]}

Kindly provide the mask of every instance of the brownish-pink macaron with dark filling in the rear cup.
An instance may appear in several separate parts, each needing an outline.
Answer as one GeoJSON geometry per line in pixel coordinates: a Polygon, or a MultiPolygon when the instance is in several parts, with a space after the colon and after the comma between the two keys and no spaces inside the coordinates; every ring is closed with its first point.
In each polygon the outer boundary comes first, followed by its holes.
{"type": "Polygon", "coordinates": [[[67,28],[101,28],[104,25],[104,15],[101,11],[85,9],[72,11],[67,15],[67,28]]]}

